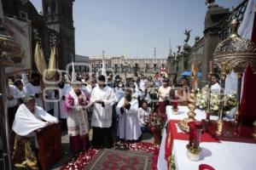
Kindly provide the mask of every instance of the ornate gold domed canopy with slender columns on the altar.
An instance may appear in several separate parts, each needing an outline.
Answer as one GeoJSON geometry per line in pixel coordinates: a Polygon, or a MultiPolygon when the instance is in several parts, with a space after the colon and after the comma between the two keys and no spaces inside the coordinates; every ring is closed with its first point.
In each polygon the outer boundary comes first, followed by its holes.
{"type": "Polygon", "coordinates": [[[236,106],[236,124],[239,122],[239,101],[241,96],[241,76],[242,72],[250,65],[256,70],[256,47],[254,42],[244,39],[237,34],[239,23],[232,20],[230,23],[231,35],[229,38],[220,42],[213,54],[214,65],[217,65],[221,73],[221,102],[218,114],[218,120],[223,117],[223,97],[225,87],[225,77],[230,71],[234,70],[238,76],[237,83],[237,106],[236,106]]]}

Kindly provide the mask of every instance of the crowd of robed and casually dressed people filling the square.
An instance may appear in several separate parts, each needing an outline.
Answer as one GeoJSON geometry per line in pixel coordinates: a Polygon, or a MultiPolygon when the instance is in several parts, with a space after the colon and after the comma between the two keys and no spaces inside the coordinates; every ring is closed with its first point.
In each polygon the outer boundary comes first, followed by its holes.
{"type": "MultiPolygon", "coordinates": [[[[183,90],[175,91],[172,90],[178,86],[175,79],[159,73],[154,77],[135,73],[126,79],[112,74],[96,77],[94,73],[81,73],[73,82],[67,75],[57,75],[55,79],[60,78],[58,89],[45,94],[38,73],[32,73],[28,80],[9,77],[6,81],[9,127],[15,133],[14,160],[17,160],[19,148],[16,146],[20,141],[27,148],[32,139],[36,139],[34,131],[55,122],[61,122],[62,131],[67,131],[73,153],[87,150],[90,145],[111,148],[119,140],[140,140],[148,131],[151,108],[165,113],[166,105],[172,104],[170,97],[174,99],[177,95],[183,97],[186,105],[189,93],[188,80],[183,79],[183,90]]],[[[25,152],[25,158],[18,159],[20,165],[26,161],[29,167],[37,167],[37,162],[30,160],[33,156],[29,156],[33,150],[25,152]]]]}

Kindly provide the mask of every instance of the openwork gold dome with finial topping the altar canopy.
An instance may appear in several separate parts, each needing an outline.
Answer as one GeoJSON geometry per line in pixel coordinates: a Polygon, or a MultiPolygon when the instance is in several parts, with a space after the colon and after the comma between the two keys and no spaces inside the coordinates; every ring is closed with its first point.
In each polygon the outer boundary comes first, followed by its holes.
{"type": "Polygon", "coordinates": [[[220,42],[213,54],[214,64],[225,73],[233,69],[236,72],[244,71],[247,65],[251,65],[256,70],[255,44],[237,34],[238,25],[236,20],[231,21],[230,37],[220,42]]]}

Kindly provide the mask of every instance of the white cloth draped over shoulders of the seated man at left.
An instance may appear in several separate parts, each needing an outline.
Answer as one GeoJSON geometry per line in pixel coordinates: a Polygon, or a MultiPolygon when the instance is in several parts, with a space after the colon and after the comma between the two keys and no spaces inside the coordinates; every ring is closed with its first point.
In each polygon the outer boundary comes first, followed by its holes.
{"type": "Polygon", "coordinates": [[[48,122],[58,122],[58,120],[39,106],[35,107],[35,113],[32,114],[26,105],[21,104],[16,112],[12,129],[20,136],[33,136],[35,130],[47,126],[48,122]]]}

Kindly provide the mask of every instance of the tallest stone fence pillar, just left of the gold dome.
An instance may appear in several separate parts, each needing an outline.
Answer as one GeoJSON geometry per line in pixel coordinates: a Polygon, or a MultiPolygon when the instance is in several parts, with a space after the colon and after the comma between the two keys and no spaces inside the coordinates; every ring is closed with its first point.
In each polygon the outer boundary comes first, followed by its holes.
{"type": "Polygon", "coordinates": [[[202,79],[207,80],[208,63],[213,59],[213,53],[218,45],[219,37],[218,33],[221,30],[221,24],[218,24],[220,20],[230,14],[229,8],[219,7],[218,5],[208,6],[206,18],[205,18],[205,30],[204,30],[204,51],[202,60],[202,79]]]}

